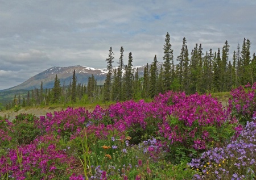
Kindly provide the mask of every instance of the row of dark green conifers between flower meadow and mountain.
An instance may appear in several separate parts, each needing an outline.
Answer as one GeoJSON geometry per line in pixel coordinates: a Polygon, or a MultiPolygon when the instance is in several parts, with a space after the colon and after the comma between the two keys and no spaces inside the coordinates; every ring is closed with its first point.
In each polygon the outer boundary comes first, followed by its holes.
{"type": "Polygon", "coordinates": [[[166,34],[163,45],[163,64],[158,68],[156,55],[150,65],[144,68],[143,77],[139,77],[138,68],[133,68],[133,56],[129,53],[125,65],[120,48],[118,67],[113,68],[114,53],[112,47],[106,58],[108,73],[104,86],[98,86],[97,80],[89,77],[87,85],[76,82],[75,70],[69,86],[61,86],[60,79],[55,78],[52,89],[28,91],[27,98],[14,97],[13,103],[6,105],[9,109],[15,104],[20,106],[36,106],[50,104],[69,104],[83,102],[117,102],[129,99],[151,99],[164,91],[185,91],[186,94],[214,93],[230,91],[240,85],[256,81],[256,57],[251,56],[251,42],[243,39],[242,47],[238,43],[236,51],[230,59],[229,44],[226,40],[222,49],[217,52],[212,49],[203,53],[201,44],[196,44],[189,54],[187,40],[183,38],[177,64],[174,64],[174,52],[170,42],[170,35],[166,34]],[[190,55],[190,56],[189,56],[190,55]]]}

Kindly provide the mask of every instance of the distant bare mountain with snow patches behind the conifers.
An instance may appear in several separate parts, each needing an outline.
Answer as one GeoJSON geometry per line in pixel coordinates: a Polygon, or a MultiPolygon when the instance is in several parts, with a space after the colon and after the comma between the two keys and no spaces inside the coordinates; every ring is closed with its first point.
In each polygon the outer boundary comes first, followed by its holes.
{"type": "MultiPolygon", "coordinates": [[[[163,63],[158,62],[158,68],[163,63]]],[[[139,76],[143,77],[144,67],[143,66],[133,66],[134,71],[138,68],[139,76]]],[[[150,67],[150,65],[149,65],[150,67]]],[[[42,73],[36,74],[35,76],[27,79],[27,81],[21,83],[18,86],[11,87],[9,89],[0,90],[0,91],[14,91],[14,90],[31,90],[38,88],[40,89],[41,82],[43,82],[43,88],[52,88],[54,84],[54,79],[56,77],[60,78],[61,86],[69,85],[72,82],[73,70],[75,69],[77,83],[87,85],[88,78],[94,76],[97,79],[97,85],[104,85],[106,74],[108,73],[107,69],[94,69],[86,66],[69,66],[69,67],[52,67],[45,70],[42,73]]],[[[124,71],[124,70],[123,70],[124,71]]]]}

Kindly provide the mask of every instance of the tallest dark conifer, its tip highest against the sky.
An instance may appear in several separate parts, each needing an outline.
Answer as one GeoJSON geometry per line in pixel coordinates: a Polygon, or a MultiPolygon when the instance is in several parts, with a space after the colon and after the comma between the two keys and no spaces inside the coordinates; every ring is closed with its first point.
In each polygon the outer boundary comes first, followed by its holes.
{"type": "Polygon", "coordinates": [[[173,75],[173,70],[174,70],[174,55],[173,55],[173,50],[171,49],[171,43],[170,43],[170,35],[166,34],[166,39],[165,39],[165,44],[164,44],[164,73],[163,73],[163,79],[164,79],[164,90],[170,90],[171,89],[171,81],[172,81],[172,75],[173,75]]]}

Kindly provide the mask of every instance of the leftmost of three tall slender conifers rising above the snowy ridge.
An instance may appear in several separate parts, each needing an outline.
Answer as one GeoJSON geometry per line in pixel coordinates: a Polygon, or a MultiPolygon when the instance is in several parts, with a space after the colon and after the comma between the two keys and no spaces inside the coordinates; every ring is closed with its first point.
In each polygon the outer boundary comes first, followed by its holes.
{"type": "Polygon", "coordinates": [[[109,57],[106,59],[108,65],[108,74],[106,75],[105,83],[104,83],[104,101],[110,101],[111,99],[111,77],[112,77],[112,64],[114,60],[114,53],[112,51],[112,47],[109,49],[109,57]]]}

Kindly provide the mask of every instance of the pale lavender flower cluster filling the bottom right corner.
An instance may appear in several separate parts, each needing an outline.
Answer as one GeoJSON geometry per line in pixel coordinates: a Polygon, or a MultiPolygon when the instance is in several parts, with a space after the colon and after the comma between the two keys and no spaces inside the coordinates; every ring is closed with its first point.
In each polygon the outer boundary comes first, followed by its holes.
{"type": "Polygon", "coordinates": [[[256,123],[247,122],[236,141],[214,148],[189,163],[200,171],[195,179],[255,179],[256,123]]]}

